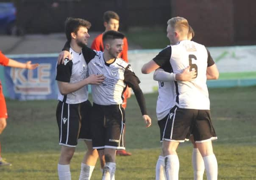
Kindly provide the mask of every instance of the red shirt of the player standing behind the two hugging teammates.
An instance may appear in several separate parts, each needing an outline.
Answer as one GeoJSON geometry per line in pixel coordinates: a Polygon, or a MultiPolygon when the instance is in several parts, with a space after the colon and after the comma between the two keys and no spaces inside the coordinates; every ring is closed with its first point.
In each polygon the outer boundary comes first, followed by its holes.
{"type": "MultiPolygon", "coordinates": [[[[104,51],[103,41],[102,41],[103,34],[98,35],[92,42],[91,48],[96,51],[104,51]]],[[[119,54],[119,57],[128,62],[128,42],[127,39],[123,39],[124,46],[122,48],[122,52],[119,54]]]]}

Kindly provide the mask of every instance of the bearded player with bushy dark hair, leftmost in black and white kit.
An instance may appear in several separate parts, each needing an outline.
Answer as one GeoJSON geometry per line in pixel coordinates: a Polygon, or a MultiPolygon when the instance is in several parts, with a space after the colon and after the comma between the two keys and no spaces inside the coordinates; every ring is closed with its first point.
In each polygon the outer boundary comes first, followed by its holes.
{"type": "Polygon", "coordinates": [[[58,162],[60,180],[71,180],[70,160],[75,152],[77,140],[85,141],[88,151],[81,163],[79,180],[89,180],[97,161],[97,150],[92,149],[92,134],[89,117],[92,105],[88,100],[87,84],[99,85],[104,81],[102,75],[90,75],[82,54],[82,47],[89,38],[89,21],[69,18],[65,22],[65,33],[70,44],[72,61],[65,61],[56,67],[58,81],[58,106],[56,118],[59,128],[61,156],[58,162]]]}

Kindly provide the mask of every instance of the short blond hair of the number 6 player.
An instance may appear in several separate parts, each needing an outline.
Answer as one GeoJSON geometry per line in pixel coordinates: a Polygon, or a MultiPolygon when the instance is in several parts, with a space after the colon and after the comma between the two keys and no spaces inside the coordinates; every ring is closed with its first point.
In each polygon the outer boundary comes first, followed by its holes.
{"type": "Polygon", "coordinates": [[[167,24],[179,31],[182,36],[187,36],[189,32],[189,22],[183,17],[173,17],[167,21],[167,24]]]}

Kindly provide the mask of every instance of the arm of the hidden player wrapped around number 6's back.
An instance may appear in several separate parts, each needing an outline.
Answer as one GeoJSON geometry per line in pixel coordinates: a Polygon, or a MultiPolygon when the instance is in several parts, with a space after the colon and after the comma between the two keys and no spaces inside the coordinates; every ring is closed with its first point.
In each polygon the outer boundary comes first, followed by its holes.
{"type": "Polygon", "coordinates": [[[155,81],[192,81],[196,77],[195,70],[189,71],[190,66],[186,67],[180,74],[168,73],[159,68],[155,71],[153,79],[155,81]]]}

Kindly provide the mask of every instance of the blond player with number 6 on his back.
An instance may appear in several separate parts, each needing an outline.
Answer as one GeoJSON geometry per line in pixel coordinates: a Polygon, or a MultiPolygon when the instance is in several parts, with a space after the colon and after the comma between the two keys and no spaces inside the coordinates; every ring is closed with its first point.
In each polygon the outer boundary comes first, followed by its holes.
{"type": "Polygon", "coordinates": [[[179,142],[184,142],[191,131],[203,156],[208,180],[217,180],[217,160],[211,140],[217,139],[210,119],[210,102],[206,78],[217,79],[218,70],[205,46],[187,40],[189,24],[175,17],[167,22],[167,37],[173,46],[162,50],[158,56],[144,64],[142,73],[150,73],[170,61],[173,73],[186,67],[195,69],[192,81],[174,81],[175,107],[170,110],[163,134],[163,153],[167,180],[178,180],[179,161],[176,153],[179,142]]]}

